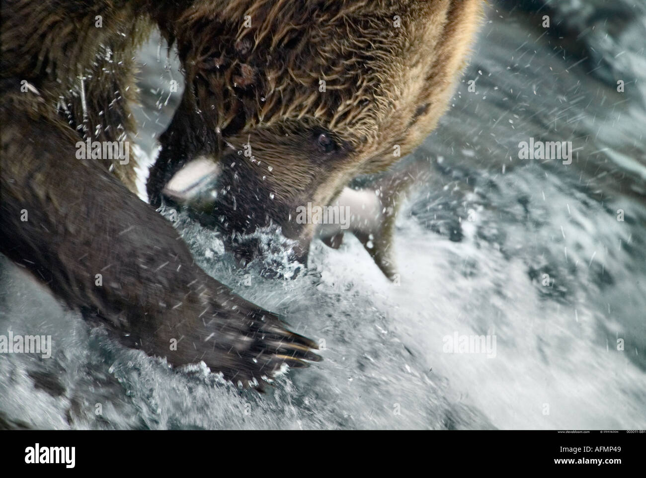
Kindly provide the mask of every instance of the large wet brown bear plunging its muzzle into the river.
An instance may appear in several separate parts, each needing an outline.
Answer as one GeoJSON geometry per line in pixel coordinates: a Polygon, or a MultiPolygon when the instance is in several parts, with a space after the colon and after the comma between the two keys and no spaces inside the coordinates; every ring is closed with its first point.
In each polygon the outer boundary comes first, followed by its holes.
{"type": "Polygon", "coordinates": [[[417,146],[447,106],[481,0],[3,0],[0,252],[171,364],[262,386],[315,344],[194,264],[155,207],[211,161],[223,231],[275,223],[307,250],[326,205],[417,146]],[[134,54],[176,42],[182,103],[142,202],[134,54]],[[106,147],[107,145],[107,147],[106,147]],[[251,151],[251,154],[238,154],[251,151]],[[175,347],[172,345],[175,344],[175,347]]]}

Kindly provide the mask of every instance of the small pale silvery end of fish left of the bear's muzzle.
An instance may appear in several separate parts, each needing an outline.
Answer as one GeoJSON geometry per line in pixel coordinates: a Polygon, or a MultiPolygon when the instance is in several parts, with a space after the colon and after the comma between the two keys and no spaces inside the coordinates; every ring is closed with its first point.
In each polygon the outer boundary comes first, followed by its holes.
{"type": "Polygon", "coordinates": [[[216,182],[220,176],[220,165],[206,158],[197,158],[186,163],[172,176],[162,194],[172,201],[184,205],[196,202],[211,202],[218,192],[216,182]]]}

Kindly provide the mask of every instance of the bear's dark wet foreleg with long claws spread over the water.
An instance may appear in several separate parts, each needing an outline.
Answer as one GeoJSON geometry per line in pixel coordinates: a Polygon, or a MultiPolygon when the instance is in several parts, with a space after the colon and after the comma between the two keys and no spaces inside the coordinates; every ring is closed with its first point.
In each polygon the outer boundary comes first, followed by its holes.
{"type": "Polygon", "coordinates": [[[171,364],[203,360],[243,384],[315,344],[196,264],[177,231],[96,160],[56,116],[0,105],[0,252],[74,308],[171,364]]]}

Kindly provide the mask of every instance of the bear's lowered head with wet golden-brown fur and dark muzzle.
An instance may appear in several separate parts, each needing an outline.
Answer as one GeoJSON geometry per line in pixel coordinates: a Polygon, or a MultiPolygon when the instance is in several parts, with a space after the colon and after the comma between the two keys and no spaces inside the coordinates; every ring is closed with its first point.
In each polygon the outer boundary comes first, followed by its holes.
{"type": "Polygon", "coordinates": [[[197,1],[162,26],[186,87],[160,161],[213,165],[200,207],[226,233],[275,223],[306,248],[313,225],[297,221],[299,206],[331,204],[435,127],[479,4],[197,1]]]}

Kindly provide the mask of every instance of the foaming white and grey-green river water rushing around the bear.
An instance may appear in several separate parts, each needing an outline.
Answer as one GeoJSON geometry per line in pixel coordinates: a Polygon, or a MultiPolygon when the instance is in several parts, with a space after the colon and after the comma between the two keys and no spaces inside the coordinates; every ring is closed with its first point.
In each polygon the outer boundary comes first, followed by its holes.
{"type": "MultiPolygon", "coordinates": [[[[0,355],[0,428],[646,428],[646,4],[538,4],[487,8],[451,109],[399,165],[426,172],[397,220],[399,284],[354,238],[264,278],[180,218],[200,265],[322,362],[267,395],[174,371],[0,256],[0,334],[52,335],[52,358],[0,355]],[[523,141],[571,141],[571,163],[521,159],[523,141]]],[[[141,61],[152,155],[181,74],[156,40],[141,61]]]]}

